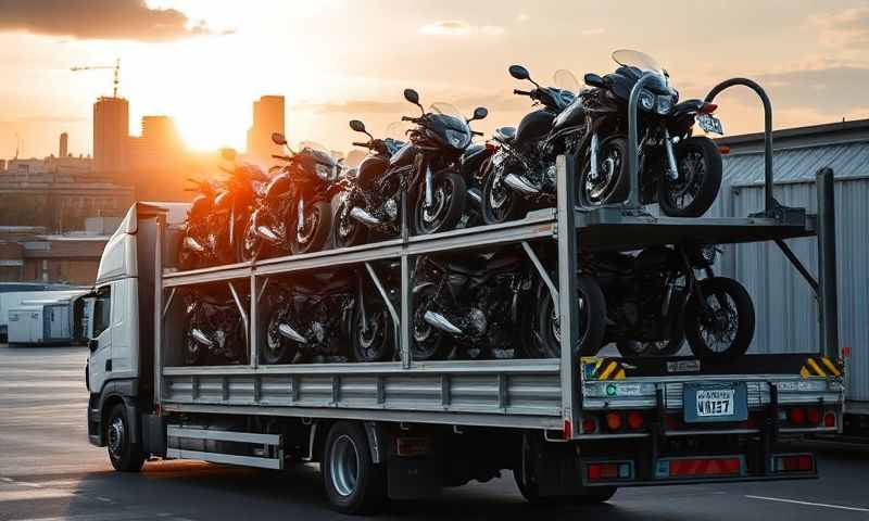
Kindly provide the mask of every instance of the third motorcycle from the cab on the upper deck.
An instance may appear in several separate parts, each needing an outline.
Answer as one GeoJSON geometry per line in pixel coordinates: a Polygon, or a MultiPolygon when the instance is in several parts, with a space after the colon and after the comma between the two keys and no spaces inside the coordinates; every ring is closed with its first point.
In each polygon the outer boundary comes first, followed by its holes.
{"type": "Polygon", "coordinates": [[[391,164],[393,155],[412,150],[407,143],[394,138],[375,139],[358,119],[350,122],[350,128],[368,136],[368,141],[356,141],[353,145],[371,153],[339,181],[342,192],[332,228],[337,247],[364,244],[371,232],[396,236],[401,229],[401,194],[407,189],[407,178],[413,171],[411,164],[391,164]]]}

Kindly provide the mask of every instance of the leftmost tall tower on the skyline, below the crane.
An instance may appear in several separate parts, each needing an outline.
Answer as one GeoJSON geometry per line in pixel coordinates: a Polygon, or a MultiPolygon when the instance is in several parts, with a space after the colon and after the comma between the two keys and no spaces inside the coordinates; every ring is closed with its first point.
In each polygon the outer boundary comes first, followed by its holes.
{"type": "Polygon", "coordinates": [[[93,104],[93,170],[124,171],[129,145],[129,102],[124,98],[100,98],[93,104]]]}

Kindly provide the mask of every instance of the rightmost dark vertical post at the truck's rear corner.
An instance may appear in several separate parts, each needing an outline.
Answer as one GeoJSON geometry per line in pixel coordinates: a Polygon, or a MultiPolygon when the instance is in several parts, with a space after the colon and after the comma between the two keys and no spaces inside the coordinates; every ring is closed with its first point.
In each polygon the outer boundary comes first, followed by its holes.
{"type": "Polygon", "coordinates": [[[832,168],[816,175],[818,191],[818,272],[820,274],[821,353],[839,358],[839,301],[835,259],[835,194],[832,168]]]}

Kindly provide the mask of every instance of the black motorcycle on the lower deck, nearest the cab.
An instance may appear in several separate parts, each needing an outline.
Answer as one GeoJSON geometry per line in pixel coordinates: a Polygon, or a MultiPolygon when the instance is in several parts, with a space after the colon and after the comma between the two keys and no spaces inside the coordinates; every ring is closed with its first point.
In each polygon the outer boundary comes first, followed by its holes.
{"type": "Polygon", "coordinates": [[[190,291],[185,303],[185,365],[247,364],[248,333],[231,297],[190,291]]]}

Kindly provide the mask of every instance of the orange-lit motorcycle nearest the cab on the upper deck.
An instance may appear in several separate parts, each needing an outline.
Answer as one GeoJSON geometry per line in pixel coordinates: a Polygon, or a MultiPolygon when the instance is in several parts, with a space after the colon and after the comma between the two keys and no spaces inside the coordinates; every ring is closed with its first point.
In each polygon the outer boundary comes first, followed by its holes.
{"type": "Polygon", "coordinates": [[[263,170],[250,163],[237,163],[236,152],[222,151],[232,168],[221,167],[229,175],[223,183],[197,181],[196,196],[187,213],[178,246],[180,270],[242,260],[239,255],[240,230],[251,215],[259,185],[268,180],[263,170]]]}

